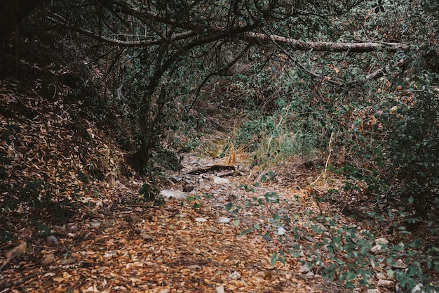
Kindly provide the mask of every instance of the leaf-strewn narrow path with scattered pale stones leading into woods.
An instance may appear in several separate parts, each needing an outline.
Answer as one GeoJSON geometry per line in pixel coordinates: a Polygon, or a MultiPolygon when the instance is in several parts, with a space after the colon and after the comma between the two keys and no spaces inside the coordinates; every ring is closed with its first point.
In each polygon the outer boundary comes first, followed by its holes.
{"type": "Polygon", "coordinates": [[[312,201],[304,205],[298,200],[304,196],[300,190],[292,193],[275,181],[254,187],[245,171],[214,183],[219,171],[187,172],[222,162],[188,155],[183,164],[182,171],[168,174],[181,179],[169,188],[191,185],[189,197],[166,199],[160,207],[123,204],[124,194],[137,193],[141,183],[119,186],[119,195],[109,196],[114,202],[51,227],[57,240],[52,245],[47,238],[27,243],[27,254],[0,271],[0,292],[340,291],[318,275],[302,273],[289,254],[285,264],[271,266],[273,254],[298,245],[304,249],[312,241],[292,235],[294,226],[307,221],[304,211],[316,209],[312,201]],[[279,201],[266,202],[270,194],[279,201]],[[262,204],[249,204],[257,200],[262,204]],[[282,239],[270,223],[273,215],[295,219],[284,226],[282,239]],[[244,230],[248,233],[241,236],[244,230]]]}

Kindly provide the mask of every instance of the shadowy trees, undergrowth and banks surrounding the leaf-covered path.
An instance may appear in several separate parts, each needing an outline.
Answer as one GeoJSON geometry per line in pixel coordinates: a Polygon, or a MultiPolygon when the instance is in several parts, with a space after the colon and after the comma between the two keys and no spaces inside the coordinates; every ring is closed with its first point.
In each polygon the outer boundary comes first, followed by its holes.
{"type": "MultiPolygon", "coordinates": [[[[325,235],[307,261],[328,280],[358,289],[379,271],[405,292],[437,290],[435,1],[4,0],[0,19],[2,254],[99,209],[119,183],[144,184],[103,205],[160,207],[169,172],[197,153],[245,165],[250,193],[302,182],[309,228],[325,235]]],[[[287,254],[300,257],[279,250],[271,265],[287,254]]]]}

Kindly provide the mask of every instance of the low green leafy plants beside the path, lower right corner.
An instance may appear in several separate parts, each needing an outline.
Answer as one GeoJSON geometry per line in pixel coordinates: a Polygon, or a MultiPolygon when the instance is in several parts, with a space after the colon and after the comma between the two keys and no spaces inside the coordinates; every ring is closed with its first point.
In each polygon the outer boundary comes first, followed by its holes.
{"type": "MultiPolygon", "coordinates": [[[[254,192],[246,185],[240,186],[249,192],[254,192]]],[[[266,193],[264,199],[252,197],[248,204],[240,209],[252,209],[264,204],[278,204],[281,202],[276,193],[266,193]],[[273,200],[274,199],[274,200],[273,200]]],[[[226,204],[226,210],[231,211],[234,204],[226,204]]],[[[405,216],[404,213],[391,214],[393,217],[405,216]]],[[[288,253],[299,260],[300,263],[311,263],[319,275],[327,280],[342,282],[346,288],[370,287],[371,278],[382,270],[387,273],[389,280],[397,280],[401,287],[413,288],[419,282],[424,284],[425,289],[432,289],[433,283],[429,283],[432,270],[439,272],[439,249],[437,245],[426,245],[424,239],[415,238],[407,245],[396,242],[391,245],[379,242],[377,235],[370,230],[359,228],[356,225],[346,225],[339,220],[337,214],[314,214],[307,211],[306,216],[311,216],[312,221],[304,221],[305,225],[297,225],[285,235],[278,235],[278,244],[282,245],[285,240],[304,240],[306,249],[301,249],[298,244],[287,251],[280,249],[273,253],[270,265],[275,266],[279,261],[285,263],[285,255],[288,253]],[[309,237],[312,230],[317,237],[309,237]],[[378,252],[377,252],[378,250],[378,252]],[[303,255],[300,252],[308,252],[303,255]],[[408,264],[407,268],[401,263],[408,264]]],[[[268,224],[273,229],[291,226],[291,223],[300,221],[302,215],[295,214],[290,219],[289,214],[272,214],[268,224]]],[[[241,224],[236,220],[234,226],[241,224]]],[[[431,222],[431,235],[435,235],[434,223],[431,222]]],[[[403,239],[407,235],[407,228],[400,222],[394,224],[396,238],[403,239]]],[[[266,226],[265,226],[266,227],[266,226]]],[[[270,229],[261,230],[261,223],[253,223],[243,227],[240,235],[249,235],[259,231],[266,241],[273,241],[270,229]]],[[[303,243],[303,242],[302,242],[303,243]]],[[[431,291],[430,291],[431,292],[431,291]]]]}

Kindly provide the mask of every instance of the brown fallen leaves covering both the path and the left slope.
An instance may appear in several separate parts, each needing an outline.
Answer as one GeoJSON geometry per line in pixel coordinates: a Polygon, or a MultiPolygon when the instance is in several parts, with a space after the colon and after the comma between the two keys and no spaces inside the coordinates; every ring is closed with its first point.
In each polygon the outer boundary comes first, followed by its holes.
{"type": "MultiPolygon", "coordinates": [[[[238,188],[249,183],[246,176],[215,185],[213,174],[199,174],[189,178],[196,185],[191,195],[201,195],[194,201],[129,204],[142,182],[123,163],[123,152],[93,122],[81,119],[79,124],[74,116],[79,105],[65,108],[62,89],[53,103],[36,89],[31,86],[32,93],[25,93],[12,79],[0,84],[1,200],[13,202],[19,190],[41,181],[46,186],[39,185],[40,196],[53,202],[67,199],[79,208],[67,204],[65,211],[57,211],[64,216],[62,224],[46,207],[18,204],[14,212],[5,211],[0,232],[9,240],[0,247],[5,263],[0,292],[213,292],[217,286],[226,292],[327,291],[323,279],[302,277],[297,260],[288,255],[285,265],[270,266],[271,255],[288,242],[279,242],[269,217],[304,209],[292,194],[283,194],[275,183],[246,193],[238,188]],[[131,177],[118,181],[122,174],[131,177]],[[264,199],[267,192],[290,203],[255,205],[236,214],[224,209],[230,201],[243,207],[252,197],[264,199]],[[215,223],[219,216],[231,222],[215,223]],[[271,239],[264,240],[259,230],[240,236],[255,223],[269,230],[271,239]],[[41,236],[39,225],[56,239],[41,236]],[[22,241],[27,253],[6,263],[5,253],[22,241]]],[[[209,162],[189,157],[187,169],[209,162]]]]}

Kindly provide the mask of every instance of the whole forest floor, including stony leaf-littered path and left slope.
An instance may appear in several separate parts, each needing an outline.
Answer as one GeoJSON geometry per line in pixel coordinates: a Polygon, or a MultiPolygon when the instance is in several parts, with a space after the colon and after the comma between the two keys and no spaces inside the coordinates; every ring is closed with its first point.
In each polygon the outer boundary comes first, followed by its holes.
{"type": "Polygon", "coordinates": [[[338,209],[316,193],[341,188],[312,162],[284,162],[264,181],[240,156],[186,154],[162,186],[186,197],[152,206],[112,139],[74,116],[80,103],[67,108],[62,92],[47,103],[13,79],[0,95],[1,200],[13,209],[0,216],[0,293],[342,292],[299,261],[321,237],[313,215],[338,209]]]}

